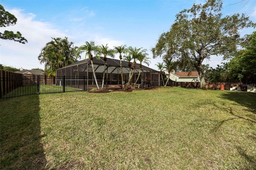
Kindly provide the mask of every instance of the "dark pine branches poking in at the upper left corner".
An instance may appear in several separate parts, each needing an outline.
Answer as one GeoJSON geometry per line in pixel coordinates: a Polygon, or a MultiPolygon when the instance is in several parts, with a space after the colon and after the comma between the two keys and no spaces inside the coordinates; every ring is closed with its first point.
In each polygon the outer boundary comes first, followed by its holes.
{"type": "MultiPolygon", "coordinates": [[[[14,26],[17,22],[17,18],[10,12],[4,10],[4,7],[0,5],[0,27],[14,26]]],[[[14,33],[13,31],[5,30],[4,33],[0,32],[0,38],[3,40],[12,40],[19,43],[28,42],[20,32],[14,33]]]]}

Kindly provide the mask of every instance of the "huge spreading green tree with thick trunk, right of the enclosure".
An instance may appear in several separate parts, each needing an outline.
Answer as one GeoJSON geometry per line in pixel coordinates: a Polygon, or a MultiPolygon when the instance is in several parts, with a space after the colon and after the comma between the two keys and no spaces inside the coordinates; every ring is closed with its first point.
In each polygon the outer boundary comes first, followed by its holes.
{"type": "Polygon", "coordinates": [[[245,14],[222,16],[222,0],[193,4],[176,14],[168,32],[164,32],[155,47],[153,57],[175,57],[179,67],[194,67],[205,88],[202,62],[212,55],[228,58],[236,55],[240,45],[240,30],[252,26],[245,14]]]}

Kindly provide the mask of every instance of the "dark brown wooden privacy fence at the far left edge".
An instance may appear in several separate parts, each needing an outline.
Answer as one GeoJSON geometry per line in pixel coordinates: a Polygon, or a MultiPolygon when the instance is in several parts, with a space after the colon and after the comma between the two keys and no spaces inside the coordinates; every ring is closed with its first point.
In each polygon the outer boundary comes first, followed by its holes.
{"type": "Polygon", "coordinates": [[[0,70],[0,98],[22,86],[22,74],[0,70]]]}

